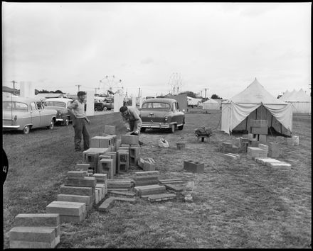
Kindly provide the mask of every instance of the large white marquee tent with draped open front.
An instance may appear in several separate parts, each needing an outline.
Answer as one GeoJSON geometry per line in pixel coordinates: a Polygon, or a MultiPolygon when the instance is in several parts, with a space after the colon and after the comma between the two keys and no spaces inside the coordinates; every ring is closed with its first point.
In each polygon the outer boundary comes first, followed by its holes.
{"type": "Polygon", "coordinates": [[[266,119],[268,127],[278,133],[292,133],[291,104],[276,99],[256,78],[239,94],[222,102],[221,130],[249,130],[253,119],[266,119]]]}

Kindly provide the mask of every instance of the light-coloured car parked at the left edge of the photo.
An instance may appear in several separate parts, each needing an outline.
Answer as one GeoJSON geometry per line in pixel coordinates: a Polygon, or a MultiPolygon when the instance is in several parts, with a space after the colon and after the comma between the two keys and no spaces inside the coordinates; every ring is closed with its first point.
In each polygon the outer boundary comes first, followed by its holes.
{"type": "Polygon", "coordinates": [[[33,128],[53,129],[57,111],[44,108],[39,99],[12,96],[2,101],[3,130],[21,130],[28,134],[33,128]]]}

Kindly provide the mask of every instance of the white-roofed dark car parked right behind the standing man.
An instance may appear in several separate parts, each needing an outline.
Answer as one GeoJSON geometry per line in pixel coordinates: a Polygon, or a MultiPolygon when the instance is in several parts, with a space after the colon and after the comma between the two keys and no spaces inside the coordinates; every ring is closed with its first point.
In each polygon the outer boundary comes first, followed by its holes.
{"type": "Polygon", "coordinates": [[[67,98],[51,98],[46,99],[43,102],[43,106],[46,109],[54,109],[58,111],[56,115],[56,122],[60,123],[61,125],[68,125],[71,121],[73,121],[72,116],[68,112],[68,106],[73,103],[73,99],[67,98]]]}

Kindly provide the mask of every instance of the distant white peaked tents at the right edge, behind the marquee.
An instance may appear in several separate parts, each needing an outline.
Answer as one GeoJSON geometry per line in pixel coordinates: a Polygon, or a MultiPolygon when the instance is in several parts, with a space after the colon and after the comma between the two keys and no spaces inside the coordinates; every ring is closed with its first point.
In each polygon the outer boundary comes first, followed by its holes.
{"type": "Polygon", "coordinates": [[[288,95],[280,97],[282,101],[292,104],[293,113],[311,114],[311,96],[307,95],[303,89],[295,89],[288,95]]]}

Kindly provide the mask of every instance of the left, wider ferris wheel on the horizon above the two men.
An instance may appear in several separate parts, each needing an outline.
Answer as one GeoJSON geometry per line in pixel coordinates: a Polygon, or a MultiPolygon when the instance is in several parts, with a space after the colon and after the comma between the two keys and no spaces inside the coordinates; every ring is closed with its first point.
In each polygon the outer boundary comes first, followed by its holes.
{"type": "MultiPolygon", "coordinates": [[[[118,79],[115,75],[106,75],[100,80],[99,89],[107,96],[114,94],[124,94],[124,87],[122,86],[122,79],[118,79]]],[[[101,92],[101,91],[100,91],[101,92]]]]}

